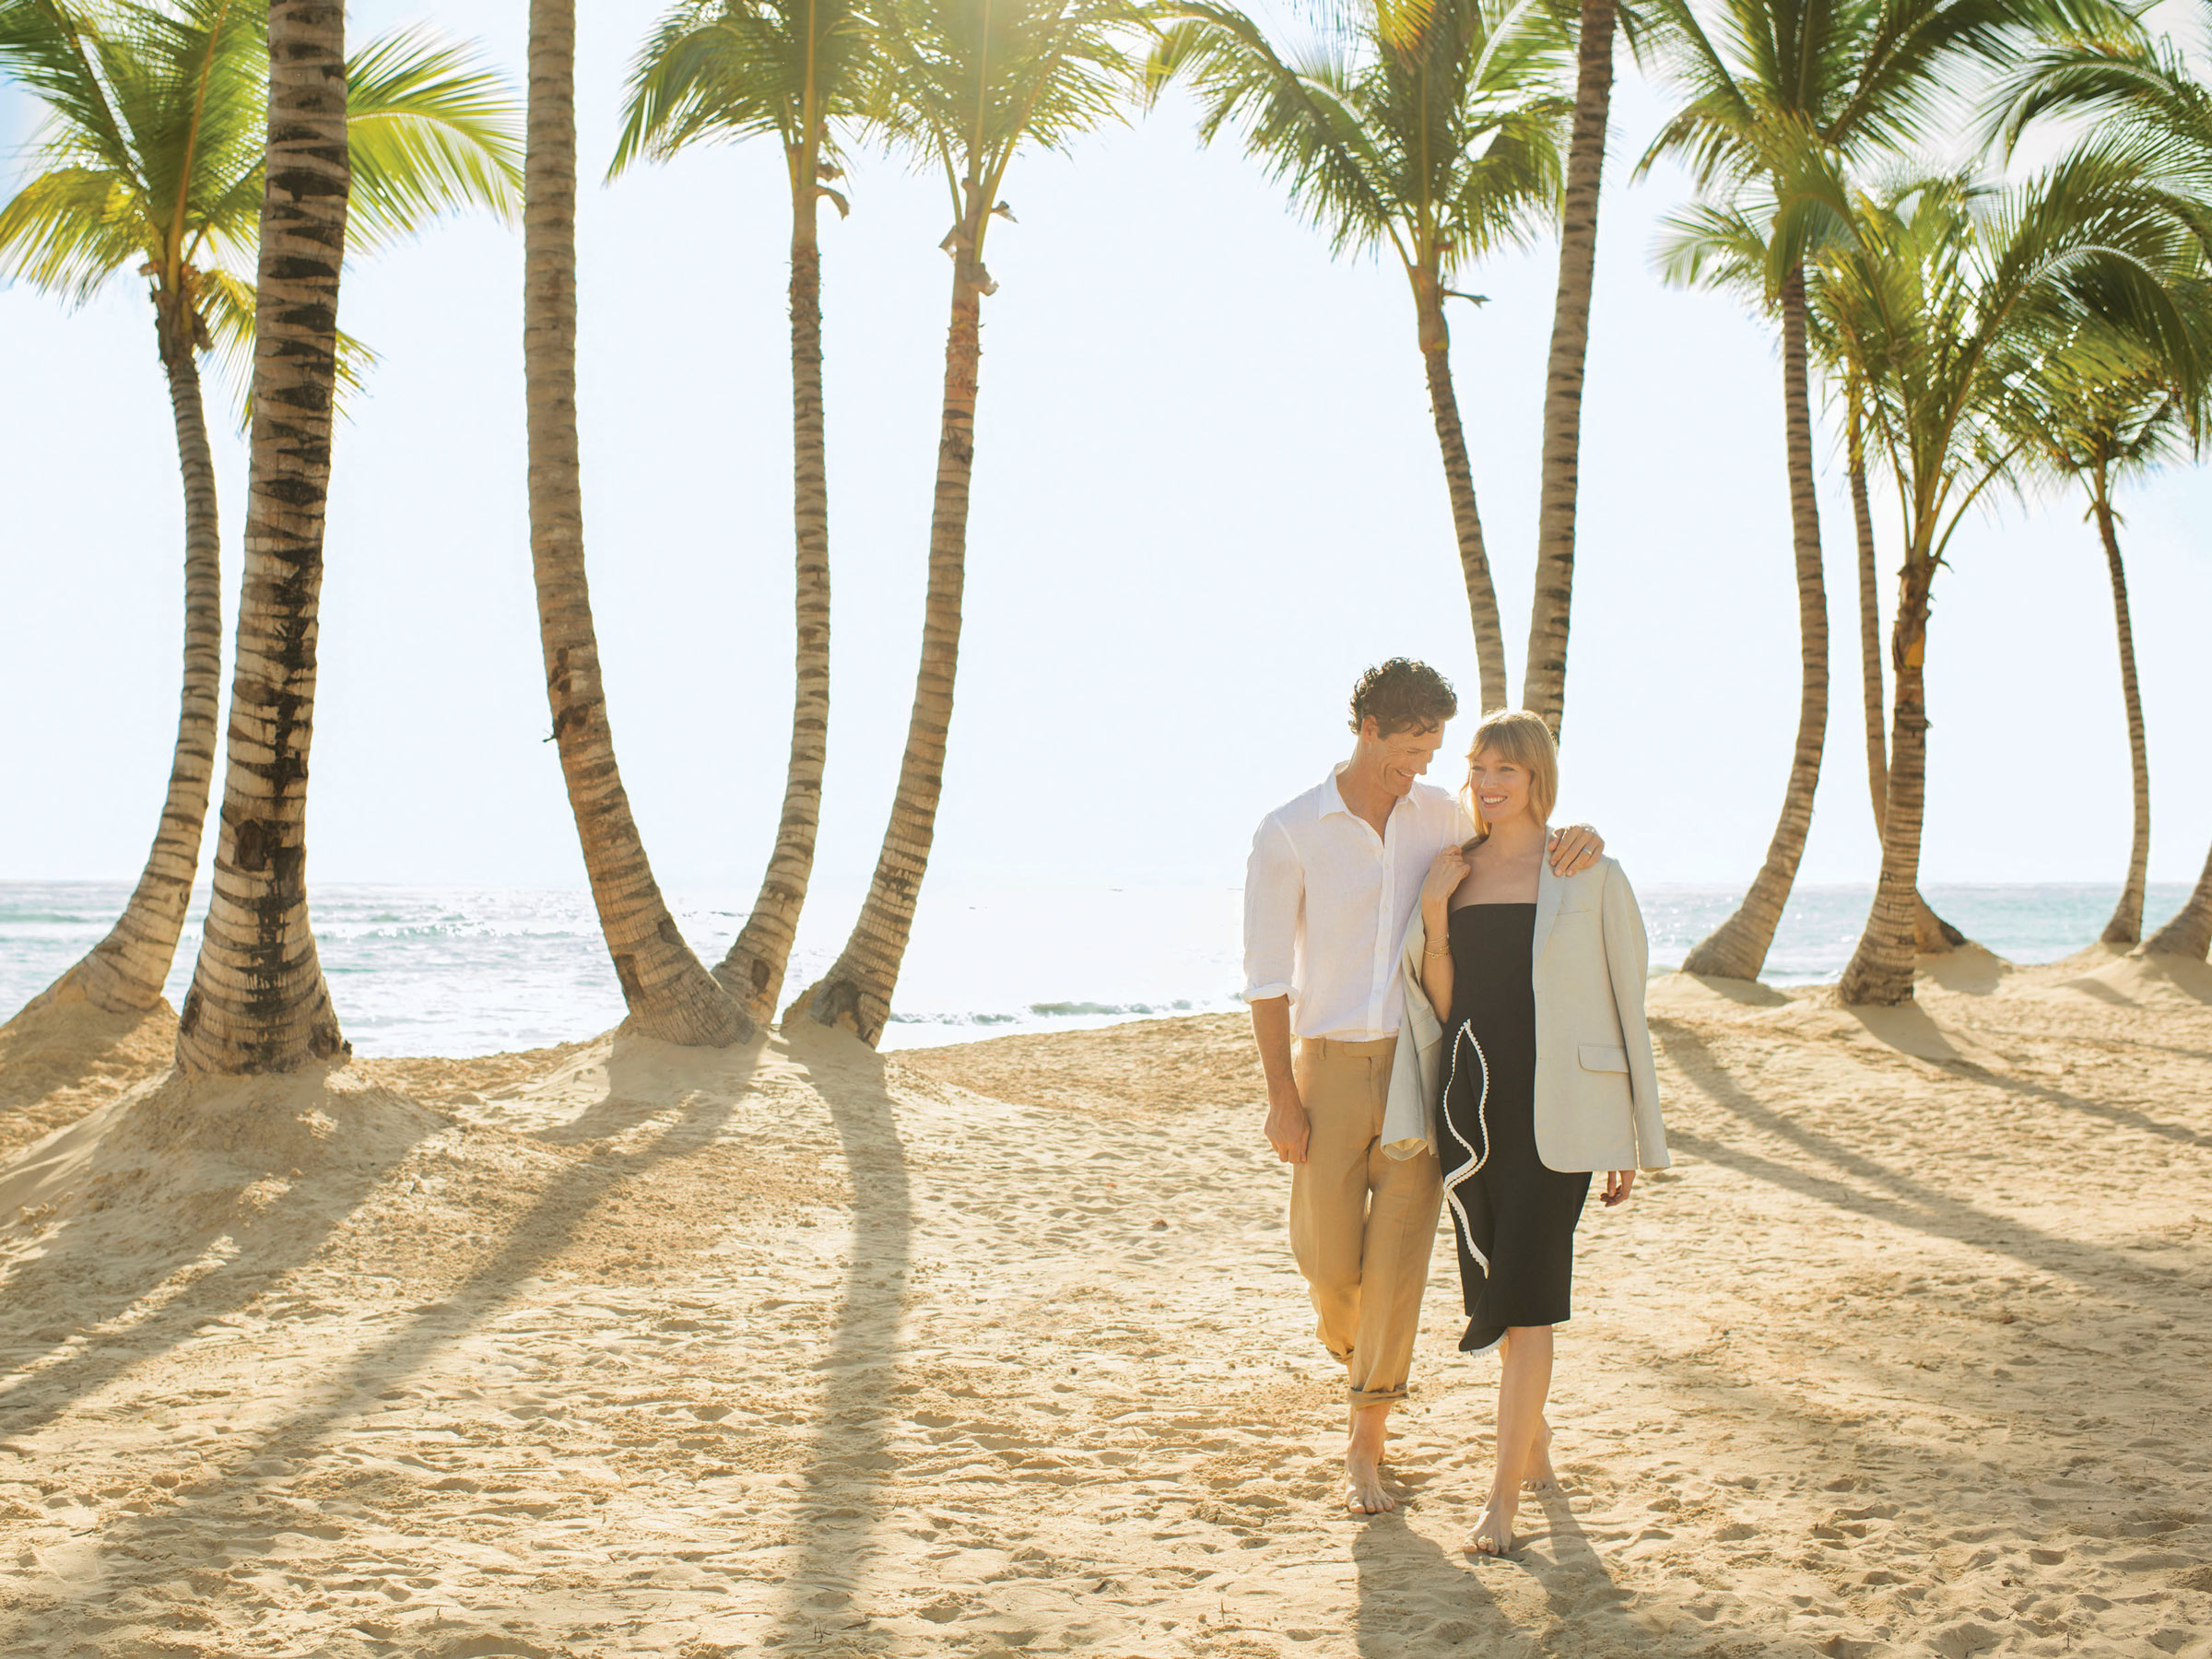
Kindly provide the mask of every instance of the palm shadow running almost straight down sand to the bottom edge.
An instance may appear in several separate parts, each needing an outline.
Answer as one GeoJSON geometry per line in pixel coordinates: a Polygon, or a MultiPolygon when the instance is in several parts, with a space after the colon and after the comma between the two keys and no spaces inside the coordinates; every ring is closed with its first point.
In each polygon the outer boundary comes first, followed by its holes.
{"type": "Polygon", "coordinates": [[[794,1020],[785,1033],[816,1093],[830,1104],[852,1175],[852,1239],[838,1292],[821,1405],[792,1506],[799,1548],[781,1586],[768,1646],[812,1652],[858,1635],[856,1606],[883,1520],[883,1469],[896,1422],[898,1325],[914,1252],[914,1194],[883,1060],[843,1033],[794,1020]]]}

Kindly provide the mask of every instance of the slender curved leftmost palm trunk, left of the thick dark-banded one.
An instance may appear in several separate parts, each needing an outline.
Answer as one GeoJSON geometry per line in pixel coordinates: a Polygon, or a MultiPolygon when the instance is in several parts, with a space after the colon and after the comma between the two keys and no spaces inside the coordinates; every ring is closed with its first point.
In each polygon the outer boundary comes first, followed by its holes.
{"type": "MultiPolygon", "coordinates": [[[[177,303],[164,310],[175,312],[177,303]]],[[[208,449],[190,316],[179,325],[173,314],[164,314],[157,334],[177,425],[177,471],[184,476],[184,695],[177,706],[168,799],[124,914],[33,1004],[82,998],[106,1013],[144,1013],[157,1006],[199,876],[199,843],[215,781],[215,719],[223,695],[223,555],[215,515],[215,453],[208,449]]]]}

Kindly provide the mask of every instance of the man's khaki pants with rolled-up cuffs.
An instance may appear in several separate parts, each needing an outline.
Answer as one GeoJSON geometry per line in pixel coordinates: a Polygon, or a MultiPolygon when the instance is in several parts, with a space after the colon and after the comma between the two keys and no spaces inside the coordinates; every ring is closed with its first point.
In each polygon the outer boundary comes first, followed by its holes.
{"type": "Polygon", "coordinates": [[[1294,1066],[1314,1135],[1290,1172],[1290,1250],[1354,1409],[1405,1398],[1444,1199],[1431,1152],[1383,1155],[1396,1046],[1301,1037],[1294,1066]]]}

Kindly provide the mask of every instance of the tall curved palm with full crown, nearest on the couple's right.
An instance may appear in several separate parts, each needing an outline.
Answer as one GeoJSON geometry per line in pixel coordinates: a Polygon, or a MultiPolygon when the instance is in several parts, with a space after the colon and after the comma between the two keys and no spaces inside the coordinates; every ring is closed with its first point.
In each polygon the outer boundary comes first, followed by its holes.
{"type": "Polygon", "coordinates": [[[1947,84],[1975,62],[2011,62],[2037,22],[2077,15],[2064,0],[1719,0],[1714,27],[1688,0],[1648,0],[1646,51],[1688,95],[1637,166],[1690,161],[1705,197],[1677,217],[1663,270],[1732,288],[1781,325],[1783,434],[1798,588],[1796,752],[1765,865],[1736,911],[1701,940],[1692,973],[1756,978],[1796,883],[1827,732],[1827,593],[1812,453],[1805,259],[1827,217],[1820,192],[1772,201],[1803,166],[1851,166],[1927,135],[1947,84]],[[1767,208],[1750,204],[1763,199],[1767,208]]]}

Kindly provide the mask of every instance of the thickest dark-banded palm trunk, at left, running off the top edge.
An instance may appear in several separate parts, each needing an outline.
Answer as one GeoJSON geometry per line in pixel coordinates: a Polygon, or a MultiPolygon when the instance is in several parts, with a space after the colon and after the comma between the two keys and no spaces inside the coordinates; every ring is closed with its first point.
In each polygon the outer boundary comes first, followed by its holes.
{"type": "Polygon", "coordinates": [[[352,1053],[307,922],[307,750],[345,257],[345,9],[270,7],[246,564],[215,891],[177,1015],[181,1071],[352,1053]]]}

